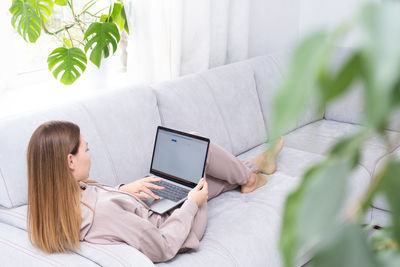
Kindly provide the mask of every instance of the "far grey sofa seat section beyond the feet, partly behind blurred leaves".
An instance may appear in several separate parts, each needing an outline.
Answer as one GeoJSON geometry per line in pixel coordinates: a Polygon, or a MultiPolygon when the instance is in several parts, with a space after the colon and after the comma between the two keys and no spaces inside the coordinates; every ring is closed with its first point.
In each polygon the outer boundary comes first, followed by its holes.
{"type": "MultiPolygon", "coordinates": [[[[319,120],[289,133],[285,139],[287,147],[326,155],[337,141],[361,130],[362,126],[332,120],[319,120]]],[[[389,138],[400,142],[400,133],[387,131],[389,138]]],[[[372,175],[380,158],[387,154],[385,144],[378,137],[367,140],[361,151],[361,165],[372,175]]]]}

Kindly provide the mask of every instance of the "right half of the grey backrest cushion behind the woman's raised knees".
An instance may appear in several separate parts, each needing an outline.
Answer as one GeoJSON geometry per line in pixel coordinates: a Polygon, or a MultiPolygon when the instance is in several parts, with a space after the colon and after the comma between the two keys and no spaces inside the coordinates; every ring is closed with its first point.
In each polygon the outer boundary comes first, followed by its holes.
{"type": "Polygon", "coordinates": [[[244,62],[199,73],[211,88],[229,133],[232,154],[238,155],[267,140],[253,69],[244,62]]]}

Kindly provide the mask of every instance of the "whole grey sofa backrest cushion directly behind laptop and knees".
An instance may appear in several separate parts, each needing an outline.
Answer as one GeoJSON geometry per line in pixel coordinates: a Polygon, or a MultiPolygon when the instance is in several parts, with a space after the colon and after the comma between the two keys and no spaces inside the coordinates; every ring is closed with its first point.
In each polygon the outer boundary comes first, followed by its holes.
{"type": "Polygon", "coordinates": [[[225,65],[153,87],[166,127],[199,132],[234,155],[266,141],[254,72],[247,64],[225,65]]]}

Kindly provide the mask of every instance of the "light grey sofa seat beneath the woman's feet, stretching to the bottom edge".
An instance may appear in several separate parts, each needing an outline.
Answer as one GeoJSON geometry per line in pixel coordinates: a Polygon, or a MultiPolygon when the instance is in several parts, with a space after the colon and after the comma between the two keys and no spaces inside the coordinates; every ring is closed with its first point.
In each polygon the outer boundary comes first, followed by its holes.
{"type": "MultiPolygon", "coordinates": [[[[267,144],[261,144],[238,158],[253,158],[266,147],[267,144]]],[[[156,265],[282,266],[278,242],[286,196],[299,184],[305,169],[302,165],[309,167],[323,158],[322,155],[284,147],[278,157],[278,169],[267,175],[265,186],[250,194],[241,194],[237,188],[208,201],[208,224],[199,250],[178,254],[171,261],[156,265]],[[293,165],[292,170],[290,165],[293,165]]],[[[368,172],[358,167],[350,177],[346,207],[351,207],[361,198],[369,182],[368,172]]],[[[301,260],[297,266],[309,259],[301,260]]]]}

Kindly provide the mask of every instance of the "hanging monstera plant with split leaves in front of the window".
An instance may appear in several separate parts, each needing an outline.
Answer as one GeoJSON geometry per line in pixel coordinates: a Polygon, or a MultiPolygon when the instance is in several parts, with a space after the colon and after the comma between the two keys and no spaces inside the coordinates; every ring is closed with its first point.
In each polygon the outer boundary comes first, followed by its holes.
{"type": "Polygon", "coordinates": [[[87,1],[76,12],[73,0],[13,0],[11,24],[28,43],[35,43],[42,32],[60,43],[47,63],[53,76],[69,85],[85,71],[87,55],[100,68],[101,60],[116,52],[120,34],[129,34],[123,1],[110,1],[93,11],[99,2],[87,1]],[[54,14],[56,7],[66,9],[64,15],[54,14]]]}

